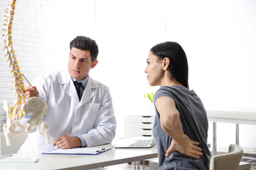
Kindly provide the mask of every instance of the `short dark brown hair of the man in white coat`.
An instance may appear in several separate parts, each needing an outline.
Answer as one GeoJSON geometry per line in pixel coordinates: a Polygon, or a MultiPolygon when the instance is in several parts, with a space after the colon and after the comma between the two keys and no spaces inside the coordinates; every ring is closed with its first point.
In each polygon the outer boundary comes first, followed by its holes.
{"type": "Polygon", "coordinates": [[[88,50],[91,52],[91,60],[97,59],[98,56],[98,45],[93,39],[84,36],[77,36],[70,42],[70,51],[72,47],[79,50],[88,50]]]}

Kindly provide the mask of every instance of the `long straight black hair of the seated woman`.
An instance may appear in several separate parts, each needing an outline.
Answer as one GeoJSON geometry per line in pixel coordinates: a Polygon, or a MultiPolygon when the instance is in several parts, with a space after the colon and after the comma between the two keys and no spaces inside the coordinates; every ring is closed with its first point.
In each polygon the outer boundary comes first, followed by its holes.
{"type": "Polygon", "coordinates": [[[169,71],[174,78],[186,88],[188,87],[188,60],[186,54],[177,42],[163,42],[156,44],[150,50],[158,59],[169,58],[169,71]]]}

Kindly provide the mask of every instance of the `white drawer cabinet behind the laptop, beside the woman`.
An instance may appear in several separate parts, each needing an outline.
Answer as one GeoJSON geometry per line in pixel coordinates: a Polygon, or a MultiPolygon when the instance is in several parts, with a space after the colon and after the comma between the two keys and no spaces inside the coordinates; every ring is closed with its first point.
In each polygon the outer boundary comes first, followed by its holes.
{"type": "Polygon", "coordinates": [[[125,138],[153,135],[154,115],[125,115],[125,138]]]}

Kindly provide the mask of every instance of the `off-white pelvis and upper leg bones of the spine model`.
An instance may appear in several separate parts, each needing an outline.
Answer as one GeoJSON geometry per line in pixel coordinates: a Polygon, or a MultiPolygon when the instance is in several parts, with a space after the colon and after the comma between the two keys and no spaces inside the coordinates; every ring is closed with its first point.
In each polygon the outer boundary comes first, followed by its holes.
{"type": "MultiPolygon", "coordinates": [[[[10,114],[11,109],[9,102],[7,101],[4,102],[4,110],[7,112],[7,115],[10,114]]],[[[35,127],[40,129],[40,135],[43,135],[45,144],[49,144],[49,125],[47,122],[42,122],[43,116],[48,113],[48,107],[46,103],[39,97],[31,97],[24,103],[22,110],[24,110],[25,115],[32,115],[30,120],[27,121],[28,126],[23,126],[20,124],[20,122],[16,122],[11,118],[8,118],[7,124],[3,126],[7,146],[12,145],[11,136],[20,135],[25,131],[28,134],[35,127]]]]}

